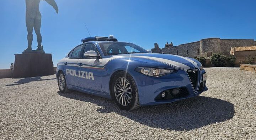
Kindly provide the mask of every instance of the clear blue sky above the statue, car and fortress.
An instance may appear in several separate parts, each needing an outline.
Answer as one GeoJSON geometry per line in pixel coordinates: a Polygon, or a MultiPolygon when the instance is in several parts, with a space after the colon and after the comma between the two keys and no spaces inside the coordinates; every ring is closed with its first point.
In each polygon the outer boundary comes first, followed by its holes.
{"type": "MultiPolygon", "coordinates": [[[[114,35],[145,49],[157,42],[174,45],[209,37],[256,39],[255,0],[55,0],[57,14],[41,1],[42,45],[54,65],[81,38],[114,35]]],[[[27,48],[25,0],[1,0],[0,69],[27,48]]],[[[34,34],[33,49],[37,41],[34,34]]]]}

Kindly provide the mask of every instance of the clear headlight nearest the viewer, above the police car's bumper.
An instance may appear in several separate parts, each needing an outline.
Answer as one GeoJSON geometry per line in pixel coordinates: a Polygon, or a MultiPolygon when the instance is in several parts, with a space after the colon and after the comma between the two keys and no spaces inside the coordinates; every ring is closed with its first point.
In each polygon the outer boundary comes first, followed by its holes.
{"type": "Polygon", "coordinates": [[[139,67],[136,68],[135,71],[138,71],[142,74],[148,75],[148,76],[154,76],[159,77],[166,74],[175,73],[175,70],[169,70],[169,69],[159,69],[159,68],[148,68],[148,67],[139,67]]]}

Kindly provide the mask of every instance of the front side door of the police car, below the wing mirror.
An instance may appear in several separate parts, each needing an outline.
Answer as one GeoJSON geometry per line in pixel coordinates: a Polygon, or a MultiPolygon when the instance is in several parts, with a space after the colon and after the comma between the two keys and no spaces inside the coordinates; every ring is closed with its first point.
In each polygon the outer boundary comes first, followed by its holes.
{"type": "Polygon", "coordinates": [[[82,58],[78,60],[79,64],[79,86],[94,91],[102,91],[101,89],[101,64],[102,58],[98,53],[97,47],[92,43],[87,43],[84,47],[82,58]],[[97,52],[97,57],[85,57],[87,51],[97,52]]]}

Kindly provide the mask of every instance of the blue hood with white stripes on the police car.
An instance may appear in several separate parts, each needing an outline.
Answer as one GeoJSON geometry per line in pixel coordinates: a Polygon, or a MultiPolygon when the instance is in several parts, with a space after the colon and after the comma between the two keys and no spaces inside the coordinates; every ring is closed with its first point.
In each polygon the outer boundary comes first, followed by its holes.
{"type": "Polygon", "coordinates": [[[134,54],[119,54],[116,57],[129,57],[129,59],[133,58],[143,58],[154,60],[156,62],[164,63],[172,66],[177,69],[193,69],[198,68],[197,60],[172,54],[159,54],[159,53],[134,53],[134,54]]]}

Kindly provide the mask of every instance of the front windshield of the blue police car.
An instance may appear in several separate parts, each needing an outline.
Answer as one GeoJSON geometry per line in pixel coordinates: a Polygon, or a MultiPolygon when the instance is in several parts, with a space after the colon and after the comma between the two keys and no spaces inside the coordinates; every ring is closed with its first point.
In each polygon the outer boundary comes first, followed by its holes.
{"type": "Polygon", "coordinates": [[[105,56],[130,53],[148,53],[145,49],[133,44],[124,42],[103,42],[99,43],[105,56]]]}

